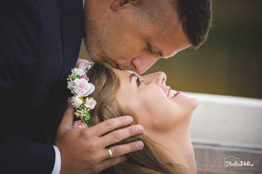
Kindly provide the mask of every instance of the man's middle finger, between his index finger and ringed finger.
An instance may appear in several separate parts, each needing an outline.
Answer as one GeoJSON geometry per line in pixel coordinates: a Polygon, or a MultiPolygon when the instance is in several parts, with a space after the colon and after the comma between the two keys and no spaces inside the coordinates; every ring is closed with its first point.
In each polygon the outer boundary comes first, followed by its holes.
{"type": "Polygon", "coordinates": [[[127,128],[122,128],[100,137],[98,140],[98,144],[102,145],[103,147],[109,146],[111,144],[120,142],[123,139],[127,139],[129,137],[141,134],[143,130],[143,126],[139,124],[132,125],[127,128]]]}

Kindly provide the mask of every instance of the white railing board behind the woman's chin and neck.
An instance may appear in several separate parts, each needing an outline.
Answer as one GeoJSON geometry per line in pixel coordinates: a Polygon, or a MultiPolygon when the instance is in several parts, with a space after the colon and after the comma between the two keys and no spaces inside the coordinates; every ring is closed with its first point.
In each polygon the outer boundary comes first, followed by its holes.
{"type": "Polygon", "coordinates": [[[188,93],[199,99],[192,116],[192,143],[262,149],[262,99],[188,93]]]}

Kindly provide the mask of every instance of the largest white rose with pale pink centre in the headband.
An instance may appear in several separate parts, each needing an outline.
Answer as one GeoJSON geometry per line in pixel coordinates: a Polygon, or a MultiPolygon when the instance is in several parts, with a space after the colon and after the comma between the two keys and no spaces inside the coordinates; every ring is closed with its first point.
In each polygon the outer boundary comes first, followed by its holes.
{"type": "Polygon", "coordinates": [[[92,94],[95,90],[95,86],[91,83],[88,83],[86,79],[75,79],[68,83],[68,88],[71,90],[72,94],[80,96],[88,96],[92,94]]]}

